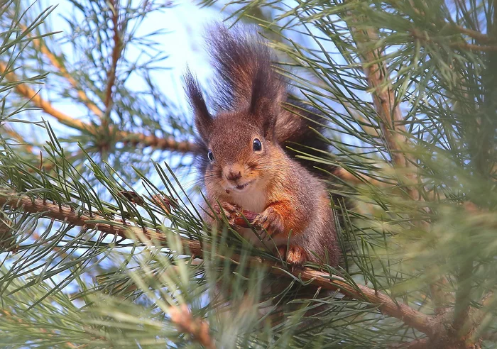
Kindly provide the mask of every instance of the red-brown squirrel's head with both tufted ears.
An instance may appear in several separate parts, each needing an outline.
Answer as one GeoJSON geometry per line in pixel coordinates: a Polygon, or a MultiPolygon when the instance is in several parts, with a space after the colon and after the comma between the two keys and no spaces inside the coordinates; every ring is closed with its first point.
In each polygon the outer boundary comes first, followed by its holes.
{"type": "Polygon", "coordinates": [[[195,126],[205,150],[200,156],[204,157],[207,189],[241,193],[261,187],[283,153],[275,140],[280,100],[268,99],[261,81],[254,79],[249,103],[212,116],[195,79],[187,74],[186,80],[195,126]]]}

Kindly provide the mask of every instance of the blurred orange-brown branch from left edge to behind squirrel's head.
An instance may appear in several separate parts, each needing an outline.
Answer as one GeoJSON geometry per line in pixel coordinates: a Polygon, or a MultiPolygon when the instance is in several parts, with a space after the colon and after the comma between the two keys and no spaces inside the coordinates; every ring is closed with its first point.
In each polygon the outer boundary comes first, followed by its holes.
{"type": "MultiPolygon", "coordinates": [[[[16,74],[9,70],[4,63],[0,62],[0,73],[6,73],[6,78],[10,82],[18,82],[19,79],[16,74]]],[[[28,87],[26,84],[16,84],[14,87],[18,94],[30,99],[32,103],[38,108],[42,109],[45,113],[56,118],[60,123],[76,128],[80,131],[88,132],[92,135],[97,135],[100,131],[98,126],[93,126],[89,123],[84,123],[77,118],[72,118],[71,116],[55,109],[49,101],[45,101],[41,96],[35,92],[35,90],[28,87]]],[[[174,138],[158,138],[155,135],[144,135],[143,133],[131,133],[126,131],[111,130],[111,133],[115,134],[116,141],[121,141],[124,144],[131,145],[143,145],[145,147],[153,147],[163,150],[174,150],[180,153],[191,153],[195,152],[196,146],[194,143],[182,140],[178,141],[174,138]]]]}

